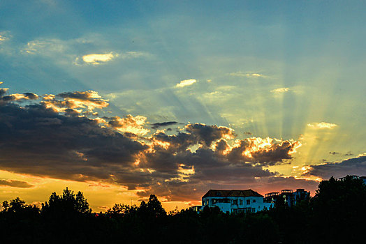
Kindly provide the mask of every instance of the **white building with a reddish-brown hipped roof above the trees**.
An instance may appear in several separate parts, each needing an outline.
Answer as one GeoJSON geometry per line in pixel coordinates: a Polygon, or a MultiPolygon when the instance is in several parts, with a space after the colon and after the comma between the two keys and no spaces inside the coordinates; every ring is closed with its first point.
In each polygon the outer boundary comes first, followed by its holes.
{"type": "Polygon", "coordinates": [[[202,208],[218,206],[224,213],[262,211],[274,206],[263,202],[263,196],[254,190],[209,190],[202,197],[202,208]]]}

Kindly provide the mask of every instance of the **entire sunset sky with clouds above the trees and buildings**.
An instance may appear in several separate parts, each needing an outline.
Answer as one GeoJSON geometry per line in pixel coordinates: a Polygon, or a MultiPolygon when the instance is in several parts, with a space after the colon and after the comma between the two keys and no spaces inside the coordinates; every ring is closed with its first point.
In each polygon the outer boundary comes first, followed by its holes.
{"type": "Polygon", "coordinates": [[[0,201],[93,211],[366,176],[363,1],[1,1],[0,201]]]}

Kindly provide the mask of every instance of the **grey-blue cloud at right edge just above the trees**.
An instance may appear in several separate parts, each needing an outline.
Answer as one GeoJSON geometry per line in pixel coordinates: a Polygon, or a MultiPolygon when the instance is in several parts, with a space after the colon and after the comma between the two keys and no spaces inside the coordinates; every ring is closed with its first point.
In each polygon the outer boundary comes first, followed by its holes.
{"type": "Polygon", "coordinates": [[[346,175],[366,176],[366,155],[350,158],[342,162],[327,162],[323,165],[312,165],[306,175],[319,176],[323,179],[346,175]]]}

